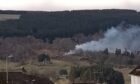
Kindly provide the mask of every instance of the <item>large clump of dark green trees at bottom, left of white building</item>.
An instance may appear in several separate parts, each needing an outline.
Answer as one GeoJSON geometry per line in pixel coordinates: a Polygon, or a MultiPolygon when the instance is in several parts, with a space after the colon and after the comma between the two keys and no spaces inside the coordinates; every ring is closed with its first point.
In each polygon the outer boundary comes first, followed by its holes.
{"type": "Polygon", "coordinates": [[[124,77],[122,73],[105,65],[71,67],[69,79],[73,82],[80,81],[84,83],[87,82],[89,84],[124,84],[124,77]]]}

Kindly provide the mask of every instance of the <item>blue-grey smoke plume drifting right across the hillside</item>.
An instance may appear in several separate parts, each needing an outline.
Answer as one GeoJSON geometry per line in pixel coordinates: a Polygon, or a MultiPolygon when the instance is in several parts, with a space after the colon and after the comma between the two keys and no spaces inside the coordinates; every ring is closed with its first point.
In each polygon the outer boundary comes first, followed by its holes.
{"type": "Polygon", "coordinates": [[[109,52],[114,52],[116,48],[122,51],[125,48],[130,51],[140,50],[140,27],[136,25],[111,27],[104,33],[103,38],[76,45],[75,50],[70,51],[70,54],[77,50],[103,51],[106,48],[109,52]]]}

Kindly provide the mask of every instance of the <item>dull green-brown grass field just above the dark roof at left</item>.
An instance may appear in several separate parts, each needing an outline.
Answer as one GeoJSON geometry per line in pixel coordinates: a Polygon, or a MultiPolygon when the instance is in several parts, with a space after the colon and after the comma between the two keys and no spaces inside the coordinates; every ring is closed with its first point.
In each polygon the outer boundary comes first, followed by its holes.
{"type": "MultiPolygon", "coordinates": [[[[61,69],[70,70],[71,66],[73,66],[73,64],[59,60],[52,60],[51,64],[45,65],[35,61],[27,61],[24,64],[8,62],[8,71],[21,72],[21,67],[24,67],[27,71],[27,74],[38,75],[41,77],[49,77],[52,81],[56,81],[59,78],[58,72],[61,69]]],[[[5,61],[0,61],[0,71],[6,71],[5,61]]]]}

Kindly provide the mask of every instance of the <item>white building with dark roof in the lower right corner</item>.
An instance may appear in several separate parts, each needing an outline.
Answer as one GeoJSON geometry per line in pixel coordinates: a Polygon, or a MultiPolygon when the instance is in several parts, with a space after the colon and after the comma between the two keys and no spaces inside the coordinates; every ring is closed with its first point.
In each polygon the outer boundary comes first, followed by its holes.
{"type": "Polygon", "coordinates": [[[140,66],[130,72],[131,84],[140,84],[140,66]]]}

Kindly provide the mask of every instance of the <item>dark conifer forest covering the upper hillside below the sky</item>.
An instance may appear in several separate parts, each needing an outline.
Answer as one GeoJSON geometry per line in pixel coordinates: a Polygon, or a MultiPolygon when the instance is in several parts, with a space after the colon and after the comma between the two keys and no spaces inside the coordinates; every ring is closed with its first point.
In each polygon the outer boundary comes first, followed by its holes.
{"type": "Polygon", "coordinates": [[[20,18],[0,21],[0,36],[33,35],[43,40],[94,34],[121,22],[140,24],[140,13],[135,10],[0,11],[0,14],[20,15],[20,18]]]}

